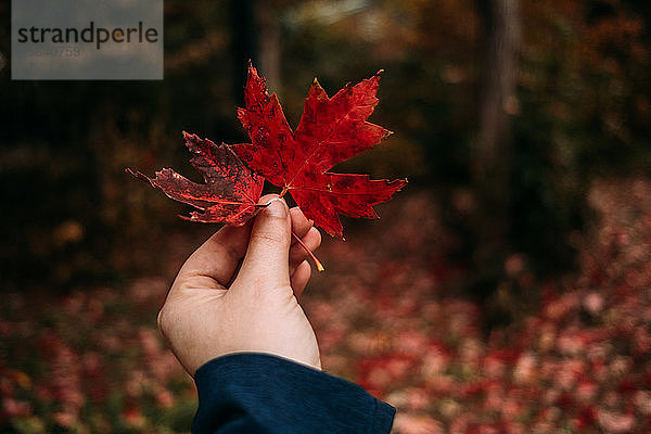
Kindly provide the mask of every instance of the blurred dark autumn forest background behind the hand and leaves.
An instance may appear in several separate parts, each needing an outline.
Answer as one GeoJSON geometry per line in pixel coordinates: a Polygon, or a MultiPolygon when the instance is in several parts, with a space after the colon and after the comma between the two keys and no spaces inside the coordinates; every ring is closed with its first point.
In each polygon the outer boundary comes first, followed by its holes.
{"type": "Polygon", "coordinates": [[[120,82],[12,81],[1,1],[0,432],[189,432],[155,317],[217,228],[124,168],[245,141],[250,58],[293,126],[385,69],[395,133],[337,170],[410,183],[318,252],[327,370],[397,433],[651,432],[650,4],[166,0],[165,79],[120,82]]]}

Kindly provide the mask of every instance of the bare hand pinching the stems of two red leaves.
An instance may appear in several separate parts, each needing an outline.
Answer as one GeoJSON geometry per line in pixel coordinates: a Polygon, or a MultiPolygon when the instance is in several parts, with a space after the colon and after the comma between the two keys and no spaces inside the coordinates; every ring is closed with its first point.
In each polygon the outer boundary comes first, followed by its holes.
{"type": "Polygon", "coordinates": [[[312,252],[321,235],[301,209],[288,209],[277,195],[260,199],[269,201],[254,221],[224,227],[188,258],[158,314],[161,332],[191,375],[215,357],[240,352],[321,368],[314,330],[296,301],[311,267],[305,250],[291,243],[291,230],[312,252]]]}

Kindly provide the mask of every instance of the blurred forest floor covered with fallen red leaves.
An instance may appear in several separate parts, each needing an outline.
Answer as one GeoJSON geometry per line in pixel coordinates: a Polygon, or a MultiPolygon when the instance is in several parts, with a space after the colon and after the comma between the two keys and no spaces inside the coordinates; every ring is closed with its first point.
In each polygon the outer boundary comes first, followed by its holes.
{"type": "MultiPolygon", "coordinates": [[[[577,272],[539,282],[510,257],[540,301],[487,337],[433,197],[406,193],[347,242],[326,240],[328,270],[302,301],[324,368],[396,406],[397,433],[651,432],[651,182],[591,189],[577,272]]],[[[195,392],[155,317],[199,240],[171,242],[163,277],[3,294],[0,432],[189,432],[195,392]]]]}

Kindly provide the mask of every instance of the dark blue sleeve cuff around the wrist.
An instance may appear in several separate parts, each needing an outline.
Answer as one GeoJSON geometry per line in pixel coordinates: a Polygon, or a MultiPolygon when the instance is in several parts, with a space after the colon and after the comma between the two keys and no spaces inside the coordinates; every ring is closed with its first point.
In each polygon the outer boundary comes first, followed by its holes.
{"type": "Polygon", "coordinates": [[[395,414],[355,383],[266,354],[218,357],[194,381],[194,434],[387,434],[395,414]]]}

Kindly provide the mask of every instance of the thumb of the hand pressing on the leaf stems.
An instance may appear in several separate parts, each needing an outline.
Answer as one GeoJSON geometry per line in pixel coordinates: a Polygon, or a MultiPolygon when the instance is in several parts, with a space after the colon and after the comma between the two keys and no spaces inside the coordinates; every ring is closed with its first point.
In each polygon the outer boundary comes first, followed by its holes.
{"type": "Polygon", "coordinates": [[[269,285],[290,285],[291,219],[284,200],[275,196],[255,218],[241,277],[265,279],[269,285]]]}

